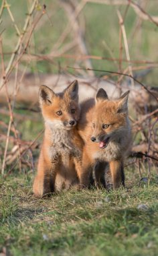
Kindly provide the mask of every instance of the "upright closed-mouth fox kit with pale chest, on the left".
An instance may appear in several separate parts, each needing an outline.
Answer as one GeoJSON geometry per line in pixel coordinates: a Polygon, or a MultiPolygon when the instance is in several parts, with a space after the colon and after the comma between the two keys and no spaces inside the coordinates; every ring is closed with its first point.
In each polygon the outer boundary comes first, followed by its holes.
{"type": "Polygon", "coordinates": [[[68,189],[80,181],[82,139],[76,129],[80,116],[78,82],[75,80],[59,94],[41,86],[40,107],[45,132],[33,182],[33,193],[38,197],[68,189]]]}

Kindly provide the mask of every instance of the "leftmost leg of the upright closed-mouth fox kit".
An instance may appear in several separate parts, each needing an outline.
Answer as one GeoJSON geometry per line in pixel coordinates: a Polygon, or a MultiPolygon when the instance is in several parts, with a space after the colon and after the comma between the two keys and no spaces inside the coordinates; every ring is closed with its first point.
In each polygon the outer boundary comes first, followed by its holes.
{"type": "Polygon", "coordinates": [[[48,193],[55,191],[56,171],[58,161],[48,162],[43,157],[40,157],[37,175],[33,181],[33,193],[37,197],[43,197],[48,193]]]}

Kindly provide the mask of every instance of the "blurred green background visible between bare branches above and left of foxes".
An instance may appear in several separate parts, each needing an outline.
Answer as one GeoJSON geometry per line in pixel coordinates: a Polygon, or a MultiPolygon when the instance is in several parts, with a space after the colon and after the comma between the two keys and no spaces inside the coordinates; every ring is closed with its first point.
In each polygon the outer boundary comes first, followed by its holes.
{"type": "MultiPolygon", "coordinates": [[[[99,2],[99,1],[98,1],[99,2]]],[[[3,1],[0,1],[3,3],[3,1]]],[[[18,35],[15,31],[15,24],[19,32],[23,34],[23,25],[29,13],[33,0],[7,0],[5,8],[0,18],[0,32],[3,42],[3,52],[5,58],[5,66],[13,53],[18,41],[18,35]],[[7,9],[7,5],[13,15],[14,22],[11,20],[11,15],[7,9]]],[[[137,1],[135,1],[137,3],[137,1]]],[[[133,61],[151,61],[151,64],[132,63],[133,74],[137,75],[137,79],[147,86],[157,86],[157,67],[158,67],[158,26],[150,20],[143,20],[133,9],[128,5],[106,5],[99,3],[90,3],[86,1],[36,1],[35,11],[31,17],[29,28],[31,24],[42,12],[43,5],[46,4],[46,14],[43,15],[40,22],[37,23],[35,30],[31,36],[29,47],[27,48],[27,55],[46,55],[51,56],[52,53],[58,53],[58,57],[52,57],[48,60],[23,60],[20,61],[19,72],[47,74],[47,73],[74,73],[76,77],[81,75],[74,69],[68,66],[85,67],[84,61],[78,61],[73,56],[82,56],[78,45],[70,47],[67,51],[64,48],[76,40],[73,26],[70,23],[70,14],[66,10],[66,5],[70,7],[79,8],[81,11],[77,18],[77,24],[80,26],[81,37],[86,46],[87,55],[94,55],[95,57],[105,57],[110,59],[119,59],[120,54],[120,37],[121,30],[118,11],[124,18],[125,31],[127,34],[127,42],[129,46],[129,55],[133,61]],[[70,4],[71,3],[71,4],[70,4]],[[69,28],[67,28],[69,27],[69,28]],[[58,44],[60,36],[68,29],[67,36],[58,44]],[[69,55],[60,56],[59,53],[69,55]],[[150,68],[150,69],[149,69],[150,68]],[[145,75],[142,71],[147,71],[145,75]],[[142,74],[142,75],[141,75],[142,74]]],[[[157,1],[139,1],[139,5],[148,13],[148,15],[157,15],[157,1]]],[[[72,13],[75,15],[75,12],[72,13]]],[[[122,59],[127,59],[124,40],[122,38],[123,55],[122,59]]],[[[23,48],[23,45],[21,46],[23,48]]],[[[107,59],[92,59],[91,66],[93,69],[102,69],[110,71],[120,71],[118,61],[110,61],[107,59]]],[[[129,64],[127,62],[121,63],[121,71],[127,69],[129,64]]],[[[13,72],[14,73],[14,70],[13,72]]],[[[94,72],[94,75],[102,73],[94,72]]],[[[85,75],[85,73],[84,73],[85,75]]],[[[89,74],[86,73],[88,76],[89,74]]],[[[115,76],[111,79],[119,79],[115,76]]],[[[25,116],[25,119],[17,118],[15,115],[15,126],[18,127],[19,137],[25,140],[34,139],[44,127],[42,116],[39,113],[32,113],[30,110],[14,110],[15,114],[25,116]]],[[[0,118],[6,124],[9,123],[8,115],[1,115],[0,118]]],[[[3,128],[3,133],[6,133],[6,127],[3,128]]],[[[13,135],[13,131],[11,131],[13,135]]],[[[9,146],[12,147],[11,143],[9,146]]]]}

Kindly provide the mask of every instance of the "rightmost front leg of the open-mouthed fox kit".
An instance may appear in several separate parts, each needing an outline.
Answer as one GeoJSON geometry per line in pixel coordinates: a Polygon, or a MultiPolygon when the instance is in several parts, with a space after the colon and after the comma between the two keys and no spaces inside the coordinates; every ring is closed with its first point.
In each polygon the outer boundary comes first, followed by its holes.
{"type": "Polygon", "coordinates": [[[114,189],[125,187],[125,174],[123,170],[123,160],[113,160],[110,163],[110,172],[112,176],[112,185],[114,189]]]}

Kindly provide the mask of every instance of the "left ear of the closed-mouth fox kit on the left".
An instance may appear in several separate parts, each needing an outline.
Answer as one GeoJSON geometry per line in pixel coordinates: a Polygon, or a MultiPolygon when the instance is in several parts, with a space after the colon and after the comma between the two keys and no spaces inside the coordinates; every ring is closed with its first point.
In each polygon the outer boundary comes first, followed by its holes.
{"type": "Polygon", "coordinates": [[[56,96],[54,91],[52,91],[48,86],[40,86],[39,91],[39,101],[40,104],[52,104],[53,98],[56,96]]]}

